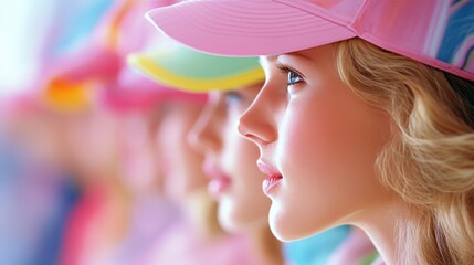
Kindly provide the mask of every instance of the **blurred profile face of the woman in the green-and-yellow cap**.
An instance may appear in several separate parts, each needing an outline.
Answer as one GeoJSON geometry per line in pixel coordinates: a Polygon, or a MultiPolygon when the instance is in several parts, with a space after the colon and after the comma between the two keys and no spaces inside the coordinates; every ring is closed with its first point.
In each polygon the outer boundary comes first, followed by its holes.
{"type": "Polygon", "coordinates": [[[262,192],[259,148],[238,131],[242,113],[262,84],[212,92],[191,131],[192,142],[206,155],[209,191],[219,201],[219,222],[228,231],[267,225],[270,200],[262,192]]]}

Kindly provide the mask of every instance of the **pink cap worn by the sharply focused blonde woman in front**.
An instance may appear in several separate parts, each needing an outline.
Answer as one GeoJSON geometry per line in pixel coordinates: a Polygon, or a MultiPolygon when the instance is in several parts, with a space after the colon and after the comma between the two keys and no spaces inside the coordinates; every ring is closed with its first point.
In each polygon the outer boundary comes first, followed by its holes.
{"type": "Polygon", "coordinates": [[[146,17],[211,54],[274,55],[359,36],[474,80],[473,14],[474,0],[192,0],[146,17]]]}

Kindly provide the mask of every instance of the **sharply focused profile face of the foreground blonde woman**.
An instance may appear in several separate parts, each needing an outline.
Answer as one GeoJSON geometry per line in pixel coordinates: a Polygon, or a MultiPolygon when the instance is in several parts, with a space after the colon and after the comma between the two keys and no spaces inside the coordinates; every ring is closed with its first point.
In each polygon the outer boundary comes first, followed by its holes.
{"type": "Polygon", "coordinates": [[[274,234],[301,239],[377,213],[391,198],[376,172],[389,116],[341,82],[334,45],[261,63],[266,82],[240,131],[260,147],[274,234]]]}

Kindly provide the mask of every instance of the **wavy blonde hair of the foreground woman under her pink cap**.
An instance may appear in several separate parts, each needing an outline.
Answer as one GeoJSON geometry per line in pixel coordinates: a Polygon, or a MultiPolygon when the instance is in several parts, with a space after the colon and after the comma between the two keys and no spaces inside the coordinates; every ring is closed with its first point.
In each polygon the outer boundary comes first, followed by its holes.
{"type": "Polygon", "coordinates": [[[410,205],[400,261],[474,264],[474,82],[357,38],[336,51],[343,81],[393,120],[377,168],[410,205]]]}

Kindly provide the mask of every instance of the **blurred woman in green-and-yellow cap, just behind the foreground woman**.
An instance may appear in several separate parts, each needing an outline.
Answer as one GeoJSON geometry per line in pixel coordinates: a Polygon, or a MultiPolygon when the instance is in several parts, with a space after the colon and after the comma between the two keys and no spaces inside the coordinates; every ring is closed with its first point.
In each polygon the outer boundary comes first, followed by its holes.
{"type": "MultiPolygon", "coordinates": [[[[239,109],[239,96],[251,97],[260,89],[263,72],[256,59],[215,57],[169,45],[154,54],[133,54],[129,61],[161,84],[190,93],[218,91],[209,93],[204,108],[197,114],[189,131],[193,136],[192,148],[206,155],[206,161],[198,165],[208,177],[203,186],[218,202],[220,225],[230,233],[245,236],[252,248],[247,253],[253,257],[251,264],[283,264],[281,243],[271,234],[266,221],[270,200],[256,183],[255,174],[260,172],[254,155],[257,149],[233,130],[235,124],[232,123],[239,109]]],[[[247,100],[242,98],[242,102],[247,100]]]]}

